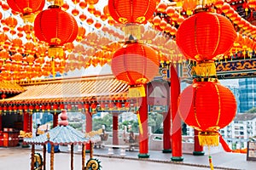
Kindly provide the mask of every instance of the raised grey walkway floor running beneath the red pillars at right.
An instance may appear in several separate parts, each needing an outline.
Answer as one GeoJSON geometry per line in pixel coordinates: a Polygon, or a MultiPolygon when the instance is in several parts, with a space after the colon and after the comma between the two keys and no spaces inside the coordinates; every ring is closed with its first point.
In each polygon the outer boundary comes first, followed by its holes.
{"type": "MultiPolygon", "coordinates": [[[[119,150],[114,150],[113,156],[111,157],[121,157],[119,156],[119,150]]],[[[170,162],[170,163],[178,163],[185,164],[189,166],[195,167],[209,167],[208,156],[193,156],[189,154],[183,155],[183,161],[171,161],[172,153],[164,154],[160,151],[149,151],[149,158],[143,160],[147,161],[160,161],[160,162],[170,162]]],[[[95,156],[108,156],[107,149],[95,149],[95,156]]],[[[138,159],[138,151],[126,151],[125,159],[138,159]]],[[[141,159],[141,158],[140,158],[141,159]]],[[[253,170],[256,169],[256,161],[246,161],[246,154],[238,154],[238,153],[226,153],[226,152],[218,152],[212,154],[212,162],[215,168],[218,169],[246,169],[253,170]]],[[[208,168],[207,168],[208,169],[208,168]]]]}

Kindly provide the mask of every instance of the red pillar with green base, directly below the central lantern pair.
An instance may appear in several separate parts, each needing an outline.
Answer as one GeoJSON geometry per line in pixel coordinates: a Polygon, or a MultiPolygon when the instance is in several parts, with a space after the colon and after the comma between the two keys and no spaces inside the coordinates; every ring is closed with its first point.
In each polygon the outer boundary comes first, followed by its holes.
{"type": "Polygon", "coordinates": [[[146,96],[141,98],[142,102],[139,109],[139,116],[143,126],[143,132],[139,130],[139,158],[148,158],[148,88],[147,84],[144,84],[146,96]]]}

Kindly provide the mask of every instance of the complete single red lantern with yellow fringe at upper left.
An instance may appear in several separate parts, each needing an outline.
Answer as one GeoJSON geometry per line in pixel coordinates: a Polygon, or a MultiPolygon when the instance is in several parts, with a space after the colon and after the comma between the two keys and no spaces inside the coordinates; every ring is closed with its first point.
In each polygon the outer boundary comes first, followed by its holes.
{"type": "Polygon", "coordinates": [[[34,22],[35,36],[49,43],[49,56],[63,56],[63,46],[78,35],[78,24],[71,14],[52,5],[40,12],[34,22]]]}

